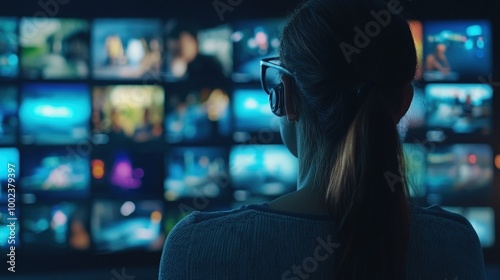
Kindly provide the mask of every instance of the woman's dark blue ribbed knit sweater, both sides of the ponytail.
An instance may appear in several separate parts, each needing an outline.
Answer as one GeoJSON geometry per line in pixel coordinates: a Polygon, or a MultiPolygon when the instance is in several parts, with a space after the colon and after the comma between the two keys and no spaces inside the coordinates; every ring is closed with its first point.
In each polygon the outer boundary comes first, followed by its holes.
{"type": "MultiPolygon", "coordinates": [[[[329,218],[267,204],[193,212],[170,232],[159,279],[333,279],[335,232],[329,218]]],[[[407,279],[485,279],[479,239],[462,216],[414,207],[410,240],[407,279]]]]}

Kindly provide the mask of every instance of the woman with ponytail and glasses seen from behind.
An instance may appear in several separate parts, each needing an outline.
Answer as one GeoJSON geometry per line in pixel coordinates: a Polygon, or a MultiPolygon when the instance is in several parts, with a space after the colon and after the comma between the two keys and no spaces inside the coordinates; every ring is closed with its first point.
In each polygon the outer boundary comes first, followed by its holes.
{"type": "Polygon", "coordinates": [[[311,0],[292,14],[262,80],[299,160],[297,191],[192,213],[166,241],[160,279],[484,279],[470,223],[408,202],[396,125],[417,58],[408,23],[388,10],[311,0]]]}

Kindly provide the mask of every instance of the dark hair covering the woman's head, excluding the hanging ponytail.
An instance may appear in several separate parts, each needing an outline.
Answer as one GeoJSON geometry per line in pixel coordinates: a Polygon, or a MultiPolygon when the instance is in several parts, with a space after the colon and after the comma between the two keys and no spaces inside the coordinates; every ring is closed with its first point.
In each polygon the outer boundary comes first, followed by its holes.
{"type": "Polygon", "coordinates": [[[293,73],[296,109],[316,136],[342,136],[363,102],[356,92],[367,82],[384,90],[378,97],[387,106],[380,111],[391,110],[395,119],[406,112],[404,90],[411,91],[417,57],[408,23],[394,10],[368,0],[312,0],[289,19],[280,59],[293,73]]]}

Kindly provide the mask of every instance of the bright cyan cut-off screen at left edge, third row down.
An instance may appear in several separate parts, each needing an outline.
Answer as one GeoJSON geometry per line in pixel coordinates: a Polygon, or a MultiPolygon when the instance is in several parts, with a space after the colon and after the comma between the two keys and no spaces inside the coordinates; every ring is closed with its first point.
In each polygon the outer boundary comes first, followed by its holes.
{"type": "Polygon", "coordinates": [[[8,203],[7,201],[7,193],[9,189],[9,178],[11,180],[11,189],[16,189],[18,186],[17,182],[19,181],[19,150],[17,148],[0,148],[0,205],[2,203],[8,203]],[[11,166],[10,164],[14,165],[11,166]],[[12,168],[15,172],[11,172],[14,174],[9,177],[9,167],[12,168]]]}

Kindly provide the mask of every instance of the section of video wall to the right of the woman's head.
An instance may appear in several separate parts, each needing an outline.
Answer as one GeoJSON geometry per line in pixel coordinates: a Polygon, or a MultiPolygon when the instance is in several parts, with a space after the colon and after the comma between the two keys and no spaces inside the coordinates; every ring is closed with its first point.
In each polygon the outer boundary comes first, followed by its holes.
{"type": "Polygon", "coordinates": [[[484,80],[493,71],[491,26],[425,21],[411,28],[421,64],[414,100],[399,125],[411,195],[464,216],[491,248],[494,92],[484,80]]]}

